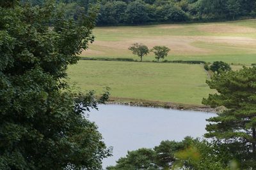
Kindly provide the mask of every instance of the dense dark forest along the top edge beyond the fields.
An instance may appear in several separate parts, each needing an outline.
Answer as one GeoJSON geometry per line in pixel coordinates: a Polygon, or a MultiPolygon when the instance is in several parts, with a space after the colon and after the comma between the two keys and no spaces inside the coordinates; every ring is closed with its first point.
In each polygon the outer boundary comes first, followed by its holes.
{"type": "MultiPolygon", "coordinates": [[[[24,0],[26,1],[26,0],[24,0]]],[[[68,16],[75,16],[96,0],[58,0],[68,16]]],[[[44,0],[33,0],[42,4],[44,0]]],[[[256,16],[254,0],[102,0],[98,25],[163,22],[204,22],[256,16]]]]}

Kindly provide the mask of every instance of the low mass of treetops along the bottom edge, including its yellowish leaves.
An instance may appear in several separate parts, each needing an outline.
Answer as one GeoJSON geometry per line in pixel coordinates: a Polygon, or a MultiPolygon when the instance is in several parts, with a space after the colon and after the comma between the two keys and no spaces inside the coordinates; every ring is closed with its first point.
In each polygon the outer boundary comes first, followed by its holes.
{"type": "Polygon", "coordinates": [[[153,149],[140,148],[128,152],[108,170],[128,169],[237,169],[234,155],[219,141],[184,138],[183,141],[162,141],[153,149]]]}

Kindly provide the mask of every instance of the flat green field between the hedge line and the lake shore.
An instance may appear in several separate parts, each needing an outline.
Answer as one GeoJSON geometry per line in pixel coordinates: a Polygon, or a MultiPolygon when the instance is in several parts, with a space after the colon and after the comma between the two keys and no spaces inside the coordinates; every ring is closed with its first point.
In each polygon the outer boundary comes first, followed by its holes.
{"type": "Polygon", "coordinates": [[[112,97],[201,104],[212,92],[201,65],[80,60],[68,69],[81,90],[111,88],[112,97]]]}

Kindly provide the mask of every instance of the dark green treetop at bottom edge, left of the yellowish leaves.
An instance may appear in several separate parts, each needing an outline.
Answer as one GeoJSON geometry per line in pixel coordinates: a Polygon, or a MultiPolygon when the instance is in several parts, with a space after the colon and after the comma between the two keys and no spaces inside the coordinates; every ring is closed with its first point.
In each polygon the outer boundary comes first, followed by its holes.
{"type": "Polygon", "coordinates": [[[116,161],[116,166],[107,167],[107,169],[170,169],[176,160],[174,153],[187,148],[192,141],[193,139],[189,137],[181,142],[162,141],[154,149],[141,148],[131,151],[125,157],[116,161]]]}

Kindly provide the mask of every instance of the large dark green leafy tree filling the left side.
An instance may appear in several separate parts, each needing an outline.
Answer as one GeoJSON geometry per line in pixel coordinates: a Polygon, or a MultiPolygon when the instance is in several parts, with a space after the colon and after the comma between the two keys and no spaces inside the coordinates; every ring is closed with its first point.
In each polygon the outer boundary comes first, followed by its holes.
{"type": "Polygon", "coordinates": [[[0,169],[100,169],[109,155],[83,113],[108,93],[97,101],[64,81],[93,41],[97,8],[76,21],[55,9],[52,1],[0,6],[0,169]]]}

